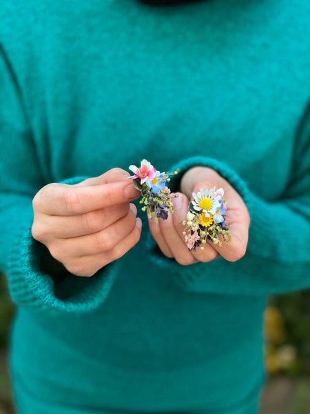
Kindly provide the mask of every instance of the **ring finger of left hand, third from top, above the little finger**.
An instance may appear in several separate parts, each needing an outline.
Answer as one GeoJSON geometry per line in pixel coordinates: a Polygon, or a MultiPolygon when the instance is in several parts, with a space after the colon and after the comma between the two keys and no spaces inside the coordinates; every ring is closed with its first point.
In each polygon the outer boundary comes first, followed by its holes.
{"type": "Polygon", "coordinates": [[[61,262],[64,262],[65,257],[105,253],[127,237],[134,226],[136,226],[136,206],[131,204],[129,213],[111,226],[91,235],[57,240],[54,246],[49,247],[50,252],[56,259],[60,257],[61,262]]]}

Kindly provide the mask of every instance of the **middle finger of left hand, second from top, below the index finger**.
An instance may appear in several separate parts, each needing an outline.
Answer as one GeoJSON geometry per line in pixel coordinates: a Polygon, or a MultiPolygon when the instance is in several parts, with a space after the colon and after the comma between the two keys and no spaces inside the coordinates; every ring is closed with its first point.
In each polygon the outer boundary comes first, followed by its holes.
{"type": "Polygon", "coordinates": [[[68,239],[98,233],[111,226],[115,221],[129,213],[130,204],[101,208],[81,215],[57,216],[43,215],[40,228],[32,229],[41,242],[51,236],[56,239],[68,239]],[[38,231],[36,231],[38,230],[38,231]]]}

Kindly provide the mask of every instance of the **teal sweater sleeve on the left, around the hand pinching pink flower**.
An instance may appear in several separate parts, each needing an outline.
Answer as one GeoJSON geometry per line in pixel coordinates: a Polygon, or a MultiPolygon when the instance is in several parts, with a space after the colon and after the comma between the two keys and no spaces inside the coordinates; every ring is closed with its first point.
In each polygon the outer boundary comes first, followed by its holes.
{"type": "MultiPolygon", "coordinates": [[[[85,312],[104,301],[117,261],[93,277],[72,275],[33,239],[32,199],[44,182],[19,82],[0,43],[0,271],[22,306],[85,312]],[[42,259],[48,259],[50,273],[42,259]],[[57,275],[61,272],[61,275],[57,275]]],[[[63,181],[75,184],[86,177],[63,181]]]]}

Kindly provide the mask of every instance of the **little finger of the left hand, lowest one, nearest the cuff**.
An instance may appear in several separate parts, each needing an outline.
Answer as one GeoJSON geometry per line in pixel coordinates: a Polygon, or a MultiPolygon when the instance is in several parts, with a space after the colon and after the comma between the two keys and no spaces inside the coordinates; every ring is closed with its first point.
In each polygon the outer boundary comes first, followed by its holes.
{"type": "Polygon", "coordinates": [[[136,225],[132,232],[124,237],[124,239],[109,252],[79,256],[73,261],[70,261],[70,263],[64,262],[63,264],[70,273],[73,273],[76,276],[90,277],[107,264],[114,262],[116,259],[125,255],[128,250],[134,247],[141,237],[141,228],[141,219],[136,219],[136,225]]]}

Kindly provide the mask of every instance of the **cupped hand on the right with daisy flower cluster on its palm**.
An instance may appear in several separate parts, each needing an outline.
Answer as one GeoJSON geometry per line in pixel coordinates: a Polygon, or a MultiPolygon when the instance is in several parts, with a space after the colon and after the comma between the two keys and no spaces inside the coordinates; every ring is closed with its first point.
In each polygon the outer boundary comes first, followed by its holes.
{"type": "Polygon", "coordinates": [[[167,220],[149,219],[149,229],[163,254],[174,257],[176,262],[182,265],[196,262],[210,262],[220,255],[229,262],[236,262],[245,255],[247,250],[250,217],[244,201],[236,190],[215,170],[207,167],[193,167],[187,170],[180,182],[178,197],[173,199],[174,214],[167,220]],[[197,248],[196,252],[189,251],[185,242],[183,221],[186,219],[189,199],[192,193],[197,193],[200,188],[223,188],[227,200],[227,215],[225,222],[231,232],[232,241],[229,246],[223,242],[223,246],[213,244],[207,240],[204,250],[197,248]]]}

